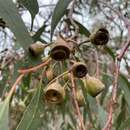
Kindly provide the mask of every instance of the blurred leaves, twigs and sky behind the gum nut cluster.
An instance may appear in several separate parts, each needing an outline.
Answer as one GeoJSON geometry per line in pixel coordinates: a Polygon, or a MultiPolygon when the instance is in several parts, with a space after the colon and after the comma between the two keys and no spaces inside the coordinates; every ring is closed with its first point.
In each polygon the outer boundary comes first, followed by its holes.
{"type": "Polygon", "coordinates": [[[85,104],[79,106],[80,112],[86,130],[103,129],[111,115],[109,102],[117,76],[111,128],[103,130],[130,129],[130,48],[127,48],[119,61],[118,75],[115,75],[114,67],[118,54],[130,39],[130,1],[74,2],[73,7],[73,0],[0,1],[0,130],[81,129],[73,103],[70,77],[67,80],[64,76],[60,78],[61,85],[67,85],[63,102],[49,104],[44,98],[44,89],[48,83],[68,70],[68,60],[52,60],[35,73],[25,74],[13,95],[8,93],[19,75],[18,70],[44,62],[49,55],[51,43],[59,35],[64,39],[74,36],[73,40],[82,43],[102,26],[109,31],[107,45],[84,43],[74,54],[77,61],[86,64],[88,74],[96,76],[98,73],[98,78],[105,85],[99,95],[92,97],[84,90],[83,79],[76,79],[76,87],[83,90],[85,99],[85,104]],[[128,20],[128,26],[123,18],[128,20]],[[28,48],[36,42],[47,47],[41,55],[32,56],[28,48]]]}

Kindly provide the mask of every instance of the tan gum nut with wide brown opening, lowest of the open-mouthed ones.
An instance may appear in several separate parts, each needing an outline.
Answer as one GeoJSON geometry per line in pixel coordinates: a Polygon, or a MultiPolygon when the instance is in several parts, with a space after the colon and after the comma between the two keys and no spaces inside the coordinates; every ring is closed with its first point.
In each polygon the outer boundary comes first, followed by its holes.
{"type": "Polygon", "coordinates": [[[65,99],[65,89],[57,81],[47,86],[44,92],[48,103],[59,104],[65,99]]]}

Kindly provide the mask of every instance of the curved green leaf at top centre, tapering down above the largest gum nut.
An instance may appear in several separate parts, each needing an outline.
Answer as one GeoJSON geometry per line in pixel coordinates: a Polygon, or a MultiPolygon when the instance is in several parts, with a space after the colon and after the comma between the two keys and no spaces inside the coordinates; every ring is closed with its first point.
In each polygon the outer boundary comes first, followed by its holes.
{"type": "Polygon", "coordinates": [[[64,16],[66,9],[71,1],[72,0],[59,0],[56,4],[51,20],[51,40],[57,24],[64,16]]]}

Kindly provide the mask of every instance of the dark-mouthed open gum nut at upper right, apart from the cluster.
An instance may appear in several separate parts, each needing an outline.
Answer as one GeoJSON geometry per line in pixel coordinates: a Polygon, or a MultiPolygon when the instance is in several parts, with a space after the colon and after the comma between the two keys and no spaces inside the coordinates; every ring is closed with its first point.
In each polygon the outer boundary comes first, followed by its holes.
{"type": "Polygon", "coordinates": [[[106,45],[109,41],[109,32],[104,27],[99,28],[97,31],[92,33],[90,41],[94,45],[106,45]]]}

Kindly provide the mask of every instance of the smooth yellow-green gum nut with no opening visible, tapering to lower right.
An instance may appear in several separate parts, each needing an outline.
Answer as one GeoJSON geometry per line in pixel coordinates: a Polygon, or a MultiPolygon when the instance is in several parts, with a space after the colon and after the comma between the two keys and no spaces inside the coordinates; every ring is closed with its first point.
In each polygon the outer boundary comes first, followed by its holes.
{"type": "Polygon", "coordinates": [[[85,80],[87,92],[95,97],[104,90],[105,85],[97,78],[88,76],[85,80]]]}

